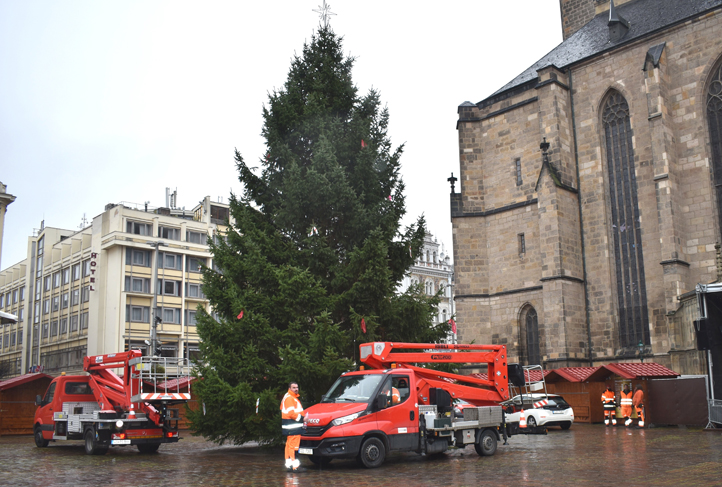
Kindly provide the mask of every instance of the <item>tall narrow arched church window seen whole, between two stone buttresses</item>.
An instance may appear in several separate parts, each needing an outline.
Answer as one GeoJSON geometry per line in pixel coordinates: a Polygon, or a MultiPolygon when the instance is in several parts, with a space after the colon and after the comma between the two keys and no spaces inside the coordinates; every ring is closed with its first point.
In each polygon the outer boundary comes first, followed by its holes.
{"type": "Polygon", "coordinates": [[[632,349],[640,342],[649,344],[649,317],[629,104],[617,91],[612,91],[602,106],[602,125],[620,345],[632,349]]]}

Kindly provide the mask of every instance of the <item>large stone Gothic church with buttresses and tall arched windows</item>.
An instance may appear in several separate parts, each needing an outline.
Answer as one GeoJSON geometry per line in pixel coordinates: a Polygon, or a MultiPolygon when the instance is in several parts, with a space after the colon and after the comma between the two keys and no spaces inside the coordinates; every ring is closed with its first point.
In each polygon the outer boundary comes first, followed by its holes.
{"type": "Polygon", "coordinates": [[[564,41],[458,109],[459,341],[704,373],[677,313],[717,278],[722,0],[560,6],[564,41]]]}

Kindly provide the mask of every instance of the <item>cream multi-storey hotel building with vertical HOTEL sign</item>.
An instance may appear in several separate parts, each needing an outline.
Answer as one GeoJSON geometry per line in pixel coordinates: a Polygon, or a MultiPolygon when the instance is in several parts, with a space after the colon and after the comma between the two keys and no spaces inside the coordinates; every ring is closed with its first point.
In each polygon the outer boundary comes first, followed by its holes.
{"type": "Polygon", "coordinates": [[[27,258],[0,271],[0,310],[18,317],[0,328],[2,378],[79,371],[86,355],[145,353],[155,315],[160,355],[196,357],[195,315],[209,309],[207,239],[228,218],[228,205],[206,197],[191,211],[109,204],[82,230],[41,228],[27,258]]]}

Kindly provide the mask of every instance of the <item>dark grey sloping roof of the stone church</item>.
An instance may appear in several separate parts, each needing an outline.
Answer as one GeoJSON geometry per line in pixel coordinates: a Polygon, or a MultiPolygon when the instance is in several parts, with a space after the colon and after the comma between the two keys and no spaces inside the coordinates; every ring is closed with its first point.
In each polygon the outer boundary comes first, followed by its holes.
{"type": "Polygon", "coordinates": [[[629,32],[616,42],[609,39],[609,12],[600,13],[546,56],[493,95],[479,102],[478,105],[483,108],[506,98],[503,95],[514,88],[526,90],[533,87],[523,85],[536,84],[537,71],[542,68],[552,65],[557,68],[565,68],[719,7],[722,7],[722,0],[635,0],[626,3],[615,7],[615,15],[623,17],[629,23],[629,32]]]}

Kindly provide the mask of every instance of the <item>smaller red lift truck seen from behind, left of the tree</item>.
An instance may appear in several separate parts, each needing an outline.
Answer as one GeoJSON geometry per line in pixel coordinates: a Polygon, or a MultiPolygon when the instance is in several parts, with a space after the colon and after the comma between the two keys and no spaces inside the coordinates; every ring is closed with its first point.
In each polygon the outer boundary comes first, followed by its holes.
{"type": "Polygon", "coordinates": [[[61,375],[35,404],[35,444],[83,440],[89,455],[104,455],[111,446],[136,445],[141,453],[178,441],[178,409],[168,406],[190,399],[173,390],[188,376],[187,360],[144,357],[138,350],[85,357],[88,375],[61,375]],[[122,375],[113,372],[122,369],[122,375]]]}

